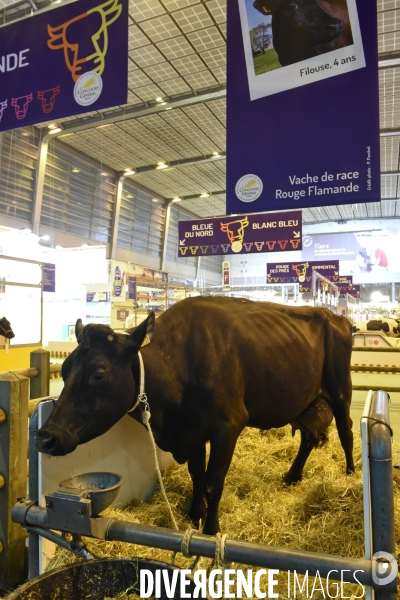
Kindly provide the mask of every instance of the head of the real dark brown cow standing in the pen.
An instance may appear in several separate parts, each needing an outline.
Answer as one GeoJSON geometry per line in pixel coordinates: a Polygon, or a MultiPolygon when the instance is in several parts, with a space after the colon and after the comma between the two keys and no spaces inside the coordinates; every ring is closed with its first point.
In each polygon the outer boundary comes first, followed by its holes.
{"type": "Polygon", "coordinates": [[[62,365],[64,388],[49,419],[36,434],[40,452],[64,456],[108,431],[132,407],[137,395],[133,372],[154,313],[131,333],[77,321],[78,347],[62,365]]]}

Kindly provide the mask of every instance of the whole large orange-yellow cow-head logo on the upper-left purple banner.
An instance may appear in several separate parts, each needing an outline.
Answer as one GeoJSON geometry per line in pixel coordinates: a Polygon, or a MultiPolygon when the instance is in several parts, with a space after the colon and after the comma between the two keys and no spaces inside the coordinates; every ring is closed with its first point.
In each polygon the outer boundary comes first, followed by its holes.
{"type": "Polygon", "coordinates": [[[107,0],[56,27],[47,26],[51,50],[63,50],[65,64],[77,82],[92,71],[101,76],[108,50],[108,27],[122,12],[119,0],[107,0]]]}

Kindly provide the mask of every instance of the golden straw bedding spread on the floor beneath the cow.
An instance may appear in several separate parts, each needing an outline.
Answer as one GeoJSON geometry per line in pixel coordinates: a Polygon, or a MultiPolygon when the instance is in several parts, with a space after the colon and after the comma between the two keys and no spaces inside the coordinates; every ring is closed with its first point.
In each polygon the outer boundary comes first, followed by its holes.
{"type": "MultiPolygon", "coordinates": [[[[238,440],[226,478],[220,505],[221,531],[228,535],[228,539],[362,557],[364,530],[361,440],[358,432],[355,432],[354,438],[355,475],[347,477],[344,474],[344,453],[336,428],[331,427],[328,441],[311,453],[303,481],[295,486],[286,486],[282,475],[288,471],[297,453],[299,433],[293,438],[289,426],[270,431],[246,429],[238,440]]],[[[394,448],[394,458],[394,464],[398,464],[399,447],[394,448]]],[[[397,473],[400,474],[400,471],[395,470],[394,479],[396,539],[400,541],[400,477],[397,473]]],[[[179,528],[187,529],[190,524],[186,514],[191,498],[187,467],[171,464],[164,472],[164,485],[179,528]]],[[[146,503],[132,500],[124,510],[108,509],[103,515],[135,523],[170,526],[167,508],[158,488],[146,503]]],[[[156,548],[91,539],[85,541],[89,552],[98,558],[139,557],[166,562],[171,559],[170,552],[156,548]]],[[[74,555],[59,550],[49,568],[74,560],[74,555]]],[[[183,568],[189,568],[192,562],[193,559],[184,558],[181,554],[176,557],[176,564],[183,568]]],[[[211,560],[200,559],[197,568],[211,566],[211,560]]],[[[242,565],[234,565],[233,568],[235,566],[242,568],[242,565]]],[[[279,590],[280,598],[287,598],[286,573],[281,572],[278,580],[279,587],[275,591],[279,590]]],[[[348,597],[361,593],[359,586],[345,586],[348,597]]],[[[334,595],[334,590],[331,594],[334,595]]],[[[306,597],[297,591],[297,598],[306,597]]],[[[318,600],[324,595],[322,591],[314,592],[312,597],[318,600]]],[[[123,598],[132,600],[135,596],[118,596],[118,600],[123,598]]]]}

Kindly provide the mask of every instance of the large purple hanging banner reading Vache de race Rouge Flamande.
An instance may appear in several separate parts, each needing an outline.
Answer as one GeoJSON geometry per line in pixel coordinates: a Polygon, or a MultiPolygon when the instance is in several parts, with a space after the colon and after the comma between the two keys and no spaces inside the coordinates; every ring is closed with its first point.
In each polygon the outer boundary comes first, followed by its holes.
{"type": "Polygon", "coordinates": [[[227,6],[227,214],[380,200],[375,0],[227,6]]]}

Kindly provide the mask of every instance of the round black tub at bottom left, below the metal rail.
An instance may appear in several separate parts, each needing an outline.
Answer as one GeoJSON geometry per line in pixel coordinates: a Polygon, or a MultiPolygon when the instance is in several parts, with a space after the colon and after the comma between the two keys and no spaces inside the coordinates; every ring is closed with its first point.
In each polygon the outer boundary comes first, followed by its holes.
{"type": "MultiPolygon", "coordinates": [[[[125,590],[128,594],[139,596],[141,569],[148,569],[152,573],[156,569],[167,569],[170,581],[172,573],[179,570],[177,567],[156,560],[127,558],[90,560],[60,567],[40,575],[19,587],[5,600],[104,600],[104,598],[113,598],[125,590]]],[[[194,582],[190,581],[186,593],[192,593],[194,587],[194,582]]],[[[178,600],[181,597],[179,577],[173,597],[178,600]]],[[[167,600],[162,576],[161,599],[167,600]]]]}

